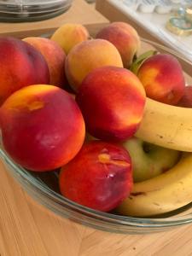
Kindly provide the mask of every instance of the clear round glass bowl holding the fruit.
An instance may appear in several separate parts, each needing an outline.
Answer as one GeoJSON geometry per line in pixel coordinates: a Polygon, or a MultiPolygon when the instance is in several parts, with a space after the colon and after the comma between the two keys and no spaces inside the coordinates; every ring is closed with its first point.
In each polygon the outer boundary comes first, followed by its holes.
{"type": "MultiPolygon", "coordinates": [[[[175,55],[180,61],[186,78],[186,84],[192,84],[189,72],[192,64],[178,55],[172,49],[142,39],[142,52],[148,49],[158,49],[161,53],[175,55]]],[[[143,234],[156,231],[165,231],[183,224],[192,222],[192,203],[175,211],[162,214],[153,218],[133,218],[114,214],[113,212],[99,212],[88,207],[67,200],[60,194],[58,186],[58,172],[28,172],[26,169],[15,164],[9,158],[3,148],[0,148],[0,157],[6,170],[15,177],[21,187],[29,195],[40,202],[50,211],[55,212],[62,218],[69,218],[80,224],[85,224],[95,229],[109,232],[143,234]]]]}

